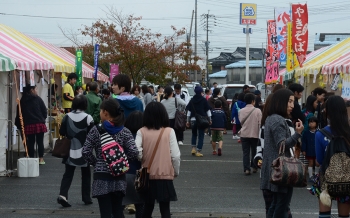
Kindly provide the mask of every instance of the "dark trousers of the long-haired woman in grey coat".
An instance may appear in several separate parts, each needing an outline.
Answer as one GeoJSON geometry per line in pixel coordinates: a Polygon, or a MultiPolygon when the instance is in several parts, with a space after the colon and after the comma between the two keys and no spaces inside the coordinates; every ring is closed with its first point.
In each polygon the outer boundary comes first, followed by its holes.
{"type": "Polygon", "coordinates": [[[290,201],[293,196],[293,187],[288,187],[287,193],[273,192],[273,199],[267,213],[267,218],[288,218],[290,201]]]}

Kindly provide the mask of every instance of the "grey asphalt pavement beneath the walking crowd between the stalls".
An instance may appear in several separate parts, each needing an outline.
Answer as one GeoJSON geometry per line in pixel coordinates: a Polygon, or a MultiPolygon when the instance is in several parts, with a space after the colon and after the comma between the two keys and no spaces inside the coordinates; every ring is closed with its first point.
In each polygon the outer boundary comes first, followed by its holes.
{"type": "MultiPolygon", "coordinates": [[[[210,139],[205,136],[201,158],[190,154],[190,137],[187,130],[185,145],[180,147],[182,161],[180,176],[175,179],[178,201],[171,203],[173,217],[265,217],[259,173],[244,175],[242,150],[232,135],[224,135],[221,157],[211,154],[210,139]]],[[[0,177],[0,217],[99,217],[96,200],[89,206],[81,202],[80,172],[69,191],[73,206],[66,209],[56,203],[64,166],[50,154],[45,160],[37,178],[0,177]]],[[[294,189],[291,210],[293,217],[318,217],[317,199],[306,188],[294,189]]],[[[156,207],[154,217],[159,217],[158,211],[156,207]]]]}

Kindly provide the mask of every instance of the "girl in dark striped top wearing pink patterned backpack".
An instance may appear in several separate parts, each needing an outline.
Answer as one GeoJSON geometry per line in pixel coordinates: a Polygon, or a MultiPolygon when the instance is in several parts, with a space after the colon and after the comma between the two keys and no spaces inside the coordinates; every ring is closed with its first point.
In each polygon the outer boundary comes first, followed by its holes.
{"type": "MultiPolygon", "coordinates": [[[[110,218],[112,215],[123,217],[125,173],[129,167],[128,160],[136,160],[138,150],[132,133],[124,127],[124,111],[118,101],[115,99],[103,101],[100,106],[100,117],[102,124],[94,126],[88,133],[82,155],[88,164],[94,166],[92,197],[98,200],[101,217],[110,218]],[[105,145],[110,148],[108,153],[110,156],[104,152],[105,145]],[[123,160],[119,162],[121,168],[108,165],[109,159],[115,156],[118,160],[123,160]],[[115,171],[118,169],[122,169],[123,172],[116,175],[115,171]]],[[[115,159],[113,161],[117,162],[115,159]]]]}

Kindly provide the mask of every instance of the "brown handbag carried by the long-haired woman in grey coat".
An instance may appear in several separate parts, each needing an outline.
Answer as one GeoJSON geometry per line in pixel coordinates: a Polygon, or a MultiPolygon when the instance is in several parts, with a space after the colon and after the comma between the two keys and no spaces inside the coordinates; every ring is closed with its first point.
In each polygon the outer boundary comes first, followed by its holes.
{"type": "Polygon", "coordinates": [[[271,164],[270,182],[286,187],[307,186],[304,164],[295,157],[286,157],[285,146],[283,141],[279,149],[279,157],[271,164]]]}

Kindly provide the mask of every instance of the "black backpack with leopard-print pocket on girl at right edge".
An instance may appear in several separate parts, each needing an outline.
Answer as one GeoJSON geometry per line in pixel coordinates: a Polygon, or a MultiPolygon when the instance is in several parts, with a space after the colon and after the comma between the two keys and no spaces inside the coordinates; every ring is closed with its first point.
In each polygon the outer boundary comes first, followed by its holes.
{"type": "Polygon", "coordinates": [[[331,197],[350,196],[350,145],[343,136],[334,136],[324,128],[319,130],[329,144],[321,166],[320,200],[331,204],[331,197]]]}

